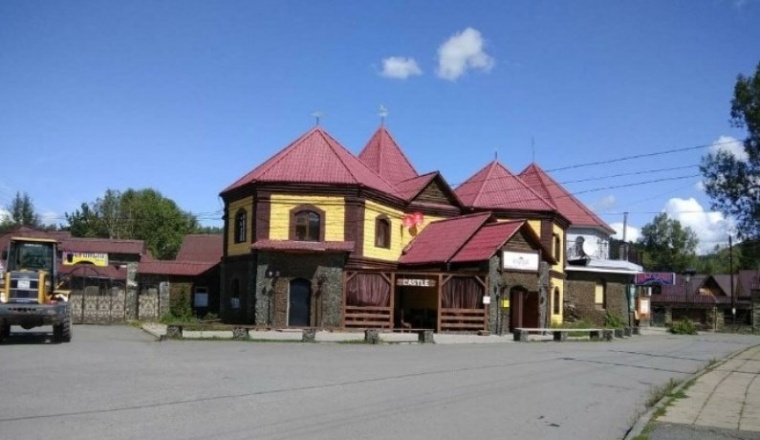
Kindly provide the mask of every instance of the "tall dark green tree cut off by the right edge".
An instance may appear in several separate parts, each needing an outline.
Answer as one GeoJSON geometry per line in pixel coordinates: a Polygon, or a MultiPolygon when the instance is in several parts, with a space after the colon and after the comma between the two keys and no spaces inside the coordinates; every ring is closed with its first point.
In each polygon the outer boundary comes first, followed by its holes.
{"type": "MultiPolygon", "coordinates": [[[[737,222],[739,239],[760,239],[760,63],[752,76],[739,75],[731,101],[731,123],[746,128],[746,157],[726,150],[702,158],[700,171],[711,206],[737,222]]],[[[744,257],[758,261],[757,252],[744,257]]]]}

